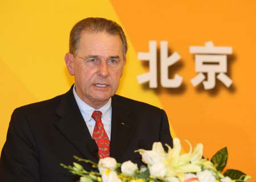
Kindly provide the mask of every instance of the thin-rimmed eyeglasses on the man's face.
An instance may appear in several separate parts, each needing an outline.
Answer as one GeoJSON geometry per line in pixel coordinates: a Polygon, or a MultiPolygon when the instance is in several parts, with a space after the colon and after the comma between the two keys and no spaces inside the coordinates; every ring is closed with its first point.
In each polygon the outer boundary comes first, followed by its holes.
{"type": "MultiPolygon", "coordinates": [[[[84,64],[90,68],[97,67],[102,63],[102,59],[100,59],[100,57],[98,56],[77,57],[84,60],[84,64]]],[[[119,59],[119,56],[110,57],[110,59],[107,59],[105,61],[109,68],[120,68],[123,64],[123,61],[119,59]]]]}

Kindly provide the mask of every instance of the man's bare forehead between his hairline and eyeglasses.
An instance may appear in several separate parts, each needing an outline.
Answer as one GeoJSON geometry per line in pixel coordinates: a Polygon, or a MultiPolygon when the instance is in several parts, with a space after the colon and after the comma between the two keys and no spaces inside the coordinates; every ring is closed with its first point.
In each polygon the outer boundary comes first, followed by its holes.
{"type": "Polygon", "coordinates": [[[122,41],[107,32],[82,31],[77,53],[86,55],[122,56],[122,41]]]}

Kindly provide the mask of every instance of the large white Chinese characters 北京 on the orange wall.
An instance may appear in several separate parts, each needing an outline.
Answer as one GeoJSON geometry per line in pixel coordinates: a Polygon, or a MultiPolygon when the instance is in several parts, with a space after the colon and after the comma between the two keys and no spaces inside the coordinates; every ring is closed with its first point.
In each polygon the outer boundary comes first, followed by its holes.
{"type": "MultiPolygon", "coordinates": [[[[189,52],[195,54],[195,71],[198,73],[191,79],[193,86],[203,82],[204,89],[213,89],[216,84],[216,78],[226,87],[232,85],[232,79],[225,73],[228,72],[227,55],[232,54],[232,47],[214,46],[212,42],[206,42],[205,46],[190,46],[189,52]],[[207,80],[205,80],[205,75],[207,80]],[[217,75],[217,76],[216,76],[217,75]]],[[[149,52],[139,52],[138,59],[149,61],[149,72],[137,76],[139,84],[149,82],[150,88],[157,88],[157,48],[156,41],[149,42],[149,52]]],[[[168,42],[160,42],[160,82],[164,88],[178,88],[183,77],[175,74],[174,78],[168,78],[168,67],[180,60],[177,52],[168,56],[168,42]]]]}

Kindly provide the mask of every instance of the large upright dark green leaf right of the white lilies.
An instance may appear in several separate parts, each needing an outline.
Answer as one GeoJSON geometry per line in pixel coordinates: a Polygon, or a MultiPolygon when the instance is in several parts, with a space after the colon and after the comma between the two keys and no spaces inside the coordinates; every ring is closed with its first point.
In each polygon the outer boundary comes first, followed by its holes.
{"type": "Polygon", "coordinates": [[[210,162],[212,162],[218,171],[222,171],[225,166],[226,162],[228,161],[228,149],[226,147],[219,150],[216,154],[213,155],[210,162]]]}

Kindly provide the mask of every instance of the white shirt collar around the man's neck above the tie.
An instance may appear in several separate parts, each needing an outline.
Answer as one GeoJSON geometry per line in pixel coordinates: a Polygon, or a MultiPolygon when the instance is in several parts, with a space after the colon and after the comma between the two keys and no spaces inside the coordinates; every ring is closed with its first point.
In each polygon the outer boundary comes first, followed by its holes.
{"type": "MultiPolygon", "coordinates": [[[[76,103],[79,106],[79,109],[84,117],[85,122],[89,122],[93,120],[92,113],[96,109],[94,109],[93,107],[89,106],[88,104],[86,104],[84,101],[81,100],[81,98],[76,93],[75,86],[76,85],[73,86],[73,94],[75,96],[76,103]]],[[[105,121],[108,121],[108,122],[111,121],[111,115],[112,115],[111,102],[112,102],[112,99],[110,97],[109,101],[104,106],[102,106],[100,109],[97,109],[101,111],[102,117],[104,118],[105,121]]]]}

